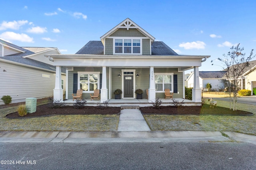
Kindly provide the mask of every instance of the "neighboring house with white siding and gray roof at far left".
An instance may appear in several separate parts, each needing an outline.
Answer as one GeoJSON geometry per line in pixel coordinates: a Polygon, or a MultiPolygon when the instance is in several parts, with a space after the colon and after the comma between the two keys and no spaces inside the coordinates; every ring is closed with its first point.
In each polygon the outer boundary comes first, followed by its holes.
{"type": "MultiPolygon", "coordinates": [[[[44,55],[60,54],[52,47],[18,47],[0,39],[0,98],[9,95],[12,103],[26,98],[53,96],[56,67],[44,55]]],[[[65,92],[66,70],[62,69],[65,92]]],[[[0,100],[0,104],[4,104],[0,100]]]]}

